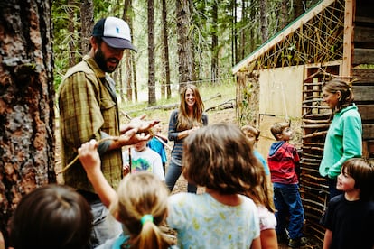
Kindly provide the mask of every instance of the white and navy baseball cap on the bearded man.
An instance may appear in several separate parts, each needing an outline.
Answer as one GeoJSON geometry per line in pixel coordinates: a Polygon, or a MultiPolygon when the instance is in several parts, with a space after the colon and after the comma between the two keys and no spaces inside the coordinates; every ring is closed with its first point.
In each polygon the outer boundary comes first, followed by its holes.
{"type": "Polygon", "coordinates": [[[128,24],[117,17],[109,16],[99,20],[93,28],[92,36],[101,37],[112,48],[136,51],[131,43],[128,24]]]}

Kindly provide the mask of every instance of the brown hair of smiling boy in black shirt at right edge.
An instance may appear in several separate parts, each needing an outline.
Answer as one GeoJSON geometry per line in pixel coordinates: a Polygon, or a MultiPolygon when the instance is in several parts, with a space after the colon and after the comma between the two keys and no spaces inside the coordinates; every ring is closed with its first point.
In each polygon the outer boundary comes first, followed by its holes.
{"type": "Polygon", "coordinates": [[[348,174],[355,180],[354,188],[360,189],[360,199],[374,198],[374,167],[362,158],[351,158],[341,166],[341,173],[348,174]]]}

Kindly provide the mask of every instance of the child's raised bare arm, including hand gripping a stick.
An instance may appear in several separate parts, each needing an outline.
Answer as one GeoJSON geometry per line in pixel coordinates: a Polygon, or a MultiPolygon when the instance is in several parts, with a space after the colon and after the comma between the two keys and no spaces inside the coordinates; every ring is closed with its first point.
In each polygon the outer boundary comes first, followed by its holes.
{"type": "Polygon", "coordinates": [[[117,199],[117,193],[109,185],[100,169],[101,160],[98,155],[98,143],[94,139],[88,143],[83,143],[78,149],[78,154],[89,181],[102,203],[108,208],[117,199]]]}

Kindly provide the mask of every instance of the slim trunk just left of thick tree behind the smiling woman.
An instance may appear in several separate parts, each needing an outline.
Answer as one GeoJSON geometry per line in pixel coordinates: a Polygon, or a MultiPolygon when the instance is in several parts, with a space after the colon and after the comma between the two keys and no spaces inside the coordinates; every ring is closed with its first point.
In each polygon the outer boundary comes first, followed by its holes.
{"type": "Polygon", "coordinates": [[[166,0],[162,0],[162,5],[163,5],[163,42],[164,42],[164,86],[162,85],[162,91],[161,95],[163,96],[163,90],[166,89],[166,95],[167,99],[170,99],[172,97],[172,90],[170,88],[170,62],[169,62],[169,40],[168,40],[168,27],[167,27],[167,5],[166,5],[166,0]]]}

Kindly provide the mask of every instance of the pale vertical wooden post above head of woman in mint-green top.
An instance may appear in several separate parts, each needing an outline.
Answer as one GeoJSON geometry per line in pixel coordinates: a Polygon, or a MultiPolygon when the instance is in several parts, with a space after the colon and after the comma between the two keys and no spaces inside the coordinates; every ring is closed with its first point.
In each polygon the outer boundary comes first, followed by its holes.
{"type": "Polygon", "coordinates": [[[341,76],[351,76],[352,44],[353,44],[353,0],[345,0],[344,8],[343,60],[341,76]]]}

